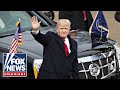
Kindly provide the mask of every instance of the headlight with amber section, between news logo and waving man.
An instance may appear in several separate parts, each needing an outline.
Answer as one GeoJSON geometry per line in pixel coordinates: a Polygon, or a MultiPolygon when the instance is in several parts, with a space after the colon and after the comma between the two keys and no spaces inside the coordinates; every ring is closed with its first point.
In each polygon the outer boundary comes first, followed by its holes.
{"type": "Polygon", "coordinates": [[[43,59],[35,59],[33,62],[33,71],[34,71],[35,79],[37,79],[38,77],[39,69],[41,67],[42,62],[43,59]]]}

